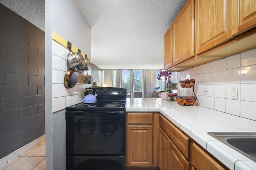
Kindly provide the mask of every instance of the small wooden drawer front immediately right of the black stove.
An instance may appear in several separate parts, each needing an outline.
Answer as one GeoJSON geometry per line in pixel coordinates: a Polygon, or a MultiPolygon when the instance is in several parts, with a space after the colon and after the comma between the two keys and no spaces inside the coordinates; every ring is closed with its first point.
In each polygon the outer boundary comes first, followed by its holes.
{"type": "Polygon", "coordinates": [[[128,124],[153,124],[153,113],[127,113],[128,124]]]}

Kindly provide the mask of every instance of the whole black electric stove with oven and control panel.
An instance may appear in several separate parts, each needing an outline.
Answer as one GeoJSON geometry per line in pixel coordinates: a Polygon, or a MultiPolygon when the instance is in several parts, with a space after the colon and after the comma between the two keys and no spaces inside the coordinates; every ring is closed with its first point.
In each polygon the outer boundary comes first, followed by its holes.
{"type": "Polygon", "coordinates": [[[125,170],[126,89],[91,93],[98,94],[96,104],[66,108],[66,169],[125,170]]]}

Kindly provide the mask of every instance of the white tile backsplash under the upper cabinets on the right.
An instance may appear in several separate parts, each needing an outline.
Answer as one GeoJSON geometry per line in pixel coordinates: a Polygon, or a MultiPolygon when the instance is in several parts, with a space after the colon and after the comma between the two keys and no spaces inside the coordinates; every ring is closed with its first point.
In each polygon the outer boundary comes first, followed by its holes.
{"type": "MultiPolygon", "coordinates": [[[[256,120],[256,49],[181,71],[178,81],[187,74],[196,80],[198,105],[256,120]],[[231,98],[231,88],[238,88],[238,100],[231,98]]],[[[178,94],[194,96],[192,88],[180,86],[178,94]]]]}

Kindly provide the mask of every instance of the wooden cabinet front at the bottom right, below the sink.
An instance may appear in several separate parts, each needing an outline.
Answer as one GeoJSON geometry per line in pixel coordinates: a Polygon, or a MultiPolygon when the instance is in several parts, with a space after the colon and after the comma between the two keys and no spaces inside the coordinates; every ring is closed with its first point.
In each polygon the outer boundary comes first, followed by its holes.
{"type": "Polygon", "coordinates": [[[192,143],[191,147],[191,169],[192,170],[224,170],[218,162],[212,159],[204,150],[192,143]]]}

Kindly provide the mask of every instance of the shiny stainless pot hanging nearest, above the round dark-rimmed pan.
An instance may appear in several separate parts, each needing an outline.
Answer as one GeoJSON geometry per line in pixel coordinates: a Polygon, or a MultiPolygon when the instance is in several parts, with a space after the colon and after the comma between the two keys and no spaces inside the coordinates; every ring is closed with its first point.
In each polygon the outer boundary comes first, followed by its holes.
{"type": "Polygon", "coordinates": [[[68,63],[72,66],[77,72],[81,72],[81,68],[85,65],[84,57],[81,53],[68,53],[68,63]]]}

